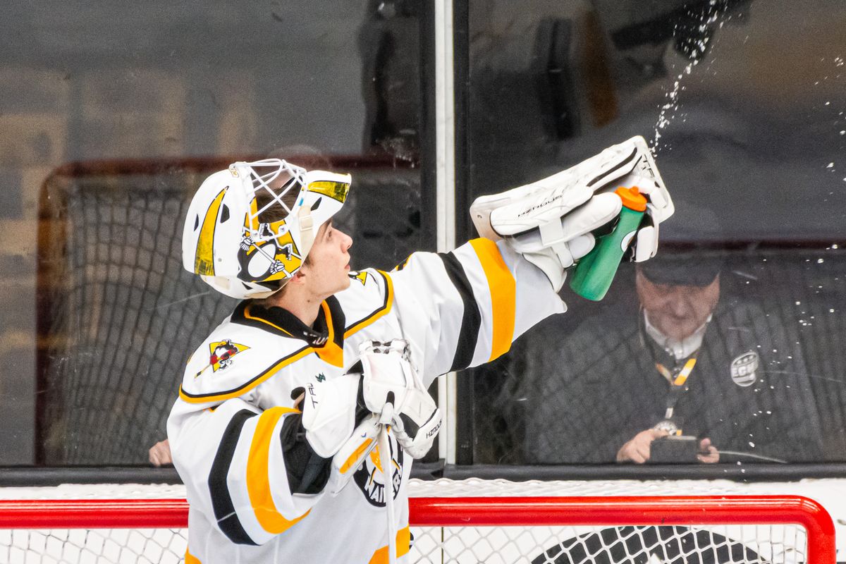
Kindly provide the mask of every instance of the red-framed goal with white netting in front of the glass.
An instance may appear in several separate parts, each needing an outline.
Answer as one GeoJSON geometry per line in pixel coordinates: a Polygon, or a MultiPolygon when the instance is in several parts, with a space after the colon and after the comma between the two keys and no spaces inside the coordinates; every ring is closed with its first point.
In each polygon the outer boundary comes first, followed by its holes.
{"type": "MultiPolygon", "coordinates": [[[[555,482],[412,480],[406,561],[835,560],[832,519],[805,497],[560,496],[563,490],[573,493],[555,482]]],[[[183,495],[181,486],[3,490],[0,563],[178,564],[187,545],[183,495]]]]}

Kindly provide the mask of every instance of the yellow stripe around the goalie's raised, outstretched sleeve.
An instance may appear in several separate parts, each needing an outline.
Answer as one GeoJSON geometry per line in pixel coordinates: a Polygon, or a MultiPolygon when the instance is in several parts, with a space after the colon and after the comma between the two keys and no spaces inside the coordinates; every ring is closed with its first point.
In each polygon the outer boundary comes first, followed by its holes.
{"type": "Polygon", "coordinates": [[[485,271],[487,285],[491,289],[492,338],[491,358],[508,353],[514,338],[514,315],[517,309],[517,282],[499,254],[497,244],[490,239],[472,239],[470,244],[479,257],[485,271]]]}

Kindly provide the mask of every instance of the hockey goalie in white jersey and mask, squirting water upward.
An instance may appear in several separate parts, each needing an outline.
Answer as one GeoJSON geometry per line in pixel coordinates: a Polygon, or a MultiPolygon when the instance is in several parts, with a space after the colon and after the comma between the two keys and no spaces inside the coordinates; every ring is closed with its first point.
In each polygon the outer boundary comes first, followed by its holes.
{"type": "Polygon", "coordinates": [[[566,306],[569,267],[637,187],[643,221],[624,260],[655,255],[673,203],[645,141],[471,208],[482,238],[350,271],[332,225],[346,174],[235,162],[201,184],[184,267],[242,300],[191,354],[168,419],[201,564],[404,561],[412,461],[441,414],[438,375],[486,363],[566,306]]]}

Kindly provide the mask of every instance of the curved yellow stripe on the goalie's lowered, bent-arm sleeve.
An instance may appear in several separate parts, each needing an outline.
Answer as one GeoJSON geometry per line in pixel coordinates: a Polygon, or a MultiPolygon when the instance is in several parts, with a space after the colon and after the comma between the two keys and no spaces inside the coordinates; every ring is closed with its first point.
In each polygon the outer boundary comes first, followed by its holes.
{"type": "Polygon", "coordinates": [[[261,528],[270,534],[280,534],[298,523],[309,514],[305,512],[299,517],[288,520],[280,513],[273,503],[270,486],[270,448],[273,431],[279,419],[285,413],[298,413],[292,408],[270,408],[261,413],[255,426],[253,441],[250,443],[250,457],[247,459],[247,493],[250,495],[250,505],[255,512],[261,528]]]}

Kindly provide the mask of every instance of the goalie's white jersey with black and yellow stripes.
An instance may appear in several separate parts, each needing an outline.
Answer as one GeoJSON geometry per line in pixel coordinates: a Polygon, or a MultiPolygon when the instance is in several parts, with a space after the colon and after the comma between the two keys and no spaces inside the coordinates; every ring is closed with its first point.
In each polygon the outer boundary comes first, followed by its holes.
{"type": "Polygon", "coordinates": [[[188,564],[387,562],[391,493],[403,561],[412,542],[412,458],[392,437],[391,452],[372,451],[337,496],[292,494],[280,439],[284,419],[299,413],[292,392],[342,375],[361,342],[393,338],[410,343],[429,386],[496,359],[565,309],[536,266],[488,239],[351,276],[349,289],[321,304],[313,327],[248,300],[192,354],[168,419],[190,503],[188,564]]]}

